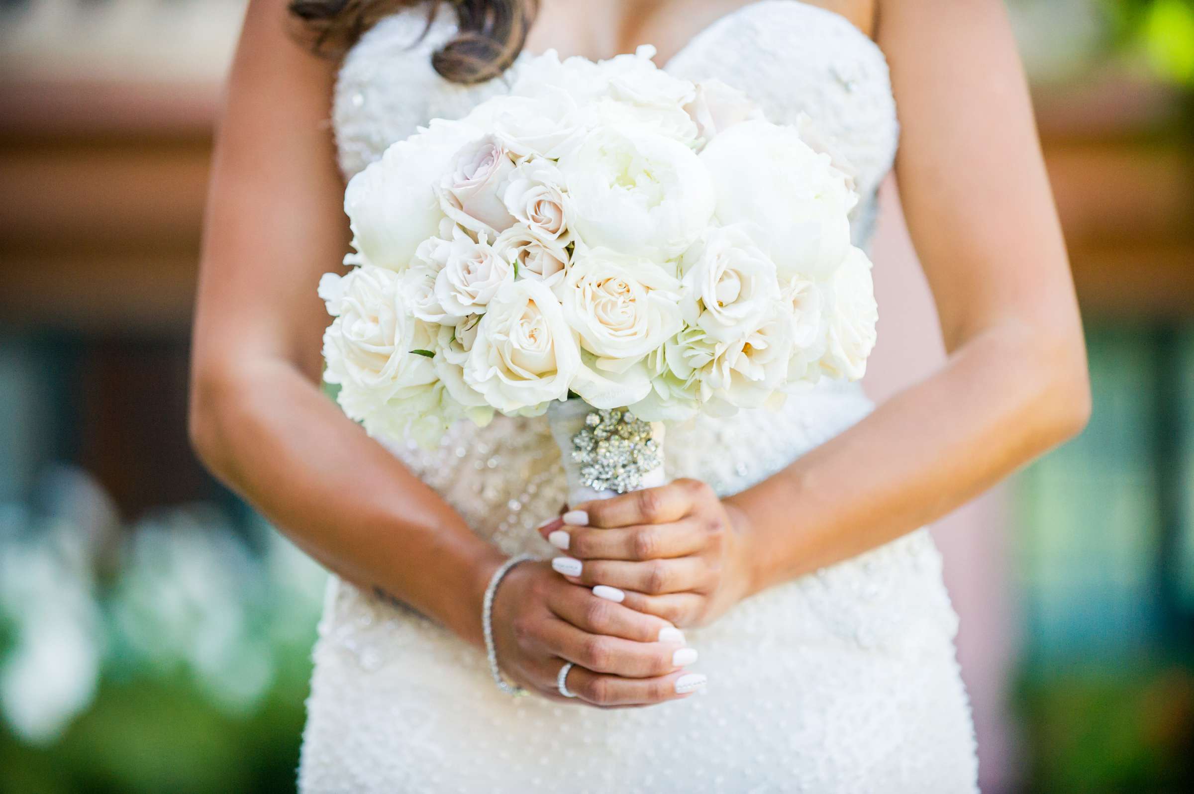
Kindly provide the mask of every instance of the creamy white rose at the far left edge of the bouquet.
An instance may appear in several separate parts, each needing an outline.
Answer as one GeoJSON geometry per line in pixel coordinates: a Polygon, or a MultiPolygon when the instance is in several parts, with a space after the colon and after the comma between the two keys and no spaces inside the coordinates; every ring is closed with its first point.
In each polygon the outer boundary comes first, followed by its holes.
{"type": "Polygon", "coordinates": [[[401,277],[362,266],[343,278],[325,276],[320,296],[337,314],[324,332],[324,380],[340,384],[339,401],[363,419],[402,389],[436,380],[430,326],[411,313],[401,277]]]}

